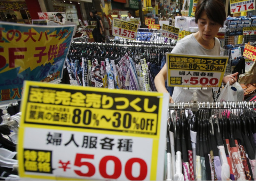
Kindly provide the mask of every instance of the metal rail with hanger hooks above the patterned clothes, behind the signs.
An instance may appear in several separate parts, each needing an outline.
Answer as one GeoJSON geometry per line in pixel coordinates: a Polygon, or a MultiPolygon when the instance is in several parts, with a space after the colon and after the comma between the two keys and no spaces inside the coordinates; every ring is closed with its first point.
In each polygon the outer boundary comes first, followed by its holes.
{"type": "Polygon", "coordinates": [[[116,44],[116,43],[97,43],[97,42],[75,42],[74,44],[85,44],[85,45],[94,45],[94,46],[117,46],[117,47],[136,47],[136,48],[171,48],[169,45],[126,45],[126,44],[116,44]]]}

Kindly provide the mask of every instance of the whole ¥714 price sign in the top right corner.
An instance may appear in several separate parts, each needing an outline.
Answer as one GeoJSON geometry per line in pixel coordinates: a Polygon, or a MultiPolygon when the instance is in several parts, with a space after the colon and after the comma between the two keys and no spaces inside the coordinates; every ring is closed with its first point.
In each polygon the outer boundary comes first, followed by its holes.
{"type": "Polygon", "coordinates": [[[242,11],[252,11],[255,10],[255,1],[247,0],[230,0],[230,12],[235,14],[242,11]]]}

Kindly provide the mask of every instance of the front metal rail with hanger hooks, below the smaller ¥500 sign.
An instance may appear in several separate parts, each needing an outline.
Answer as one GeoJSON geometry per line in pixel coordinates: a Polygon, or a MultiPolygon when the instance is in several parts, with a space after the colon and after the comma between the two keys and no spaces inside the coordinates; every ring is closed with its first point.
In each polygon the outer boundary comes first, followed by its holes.
{"type": "Polygon", "coordinates": [[[256,101],[229,101],[229,102],[197,102],[197,103],[169,103],[169,110],[173,109],[191,109],[198,111],[200,109],[244,109],[255,108],[256,101]]]}

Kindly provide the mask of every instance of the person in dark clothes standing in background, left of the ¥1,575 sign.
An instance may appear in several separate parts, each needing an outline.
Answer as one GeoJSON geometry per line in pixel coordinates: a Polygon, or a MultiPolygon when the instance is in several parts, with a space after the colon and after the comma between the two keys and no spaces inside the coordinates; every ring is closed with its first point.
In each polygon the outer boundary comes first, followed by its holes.
{"type": "Polygon", "coordinates": [[[95,25],[95,28],[93,29],[93,39],[95,42],[103,42],[102,40],[102,29],[101,29],[101,23],[99,22],[99,19],[97,18],[95,11],[90,11],[90,19],[88,21],[89,25],[95,25]]]}

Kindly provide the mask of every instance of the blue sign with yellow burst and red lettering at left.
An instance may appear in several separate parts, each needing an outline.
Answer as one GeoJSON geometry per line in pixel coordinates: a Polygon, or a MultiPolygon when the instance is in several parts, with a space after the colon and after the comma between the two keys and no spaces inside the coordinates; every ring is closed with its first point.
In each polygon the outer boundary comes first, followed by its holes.
{"type": "Polygon", "coordinates": [[[62,78],[74,26],[0,23],[0,102],[20,100],[24,80],[62,78]]]}

